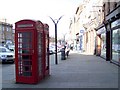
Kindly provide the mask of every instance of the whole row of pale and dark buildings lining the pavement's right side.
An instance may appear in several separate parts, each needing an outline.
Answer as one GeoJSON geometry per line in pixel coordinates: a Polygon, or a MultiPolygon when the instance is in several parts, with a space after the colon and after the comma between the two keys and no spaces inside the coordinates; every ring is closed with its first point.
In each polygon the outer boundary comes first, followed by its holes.
{"type": "Polygon", "coordinates": [[[82,50],[120,65],[120,1],[84,0],[70,23],[74,42],[82,50]]]}

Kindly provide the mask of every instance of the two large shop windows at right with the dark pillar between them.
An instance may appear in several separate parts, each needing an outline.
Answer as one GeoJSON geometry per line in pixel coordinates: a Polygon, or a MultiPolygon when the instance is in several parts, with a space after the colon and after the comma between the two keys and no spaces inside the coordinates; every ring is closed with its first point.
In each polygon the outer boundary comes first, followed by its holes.
{"type": "Polygon", "coordinates": [[[120,19],[97,29],[96,55],[120,64],[120,19]]]}

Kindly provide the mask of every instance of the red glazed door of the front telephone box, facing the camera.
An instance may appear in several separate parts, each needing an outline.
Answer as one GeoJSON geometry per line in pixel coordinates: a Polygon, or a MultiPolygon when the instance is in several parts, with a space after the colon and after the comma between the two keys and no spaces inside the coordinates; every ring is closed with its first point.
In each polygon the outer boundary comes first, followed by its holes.
{"type": "Polygon", "coordinates": [[[34,32],[16,31],[16,82],[35,83],[34,71],[34,32]]]}

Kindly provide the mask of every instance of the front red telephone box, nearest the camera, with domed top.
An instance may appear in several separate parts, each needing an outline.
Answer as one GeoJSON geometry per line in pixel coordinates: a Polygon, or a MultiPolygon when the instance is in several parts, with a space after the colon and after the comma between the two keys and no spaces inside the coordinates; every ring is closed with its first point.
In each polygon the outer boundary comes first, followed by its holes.
{"type": "Polygon", "coordinates": [[[33,84],[44,78],[46,59],[43,51],[47,48],[44,47],[44,39],[44,25],[41,21],[21,20],[15,23],[17,83],[33,84]]]}

